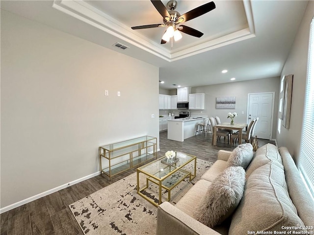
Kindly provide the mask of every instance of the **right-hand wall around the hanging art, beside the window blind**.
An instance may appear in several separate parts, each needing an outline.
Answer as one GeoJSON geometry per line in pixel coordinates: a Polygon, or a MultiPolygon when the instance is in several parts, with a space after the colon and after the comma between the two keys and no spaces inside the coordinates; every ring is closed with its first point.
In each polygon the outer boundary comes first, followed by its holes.
{"type": "Polygon", "coordinates": [[[284,65],[281,77],[293,74],[290,128],[281,126],[277,132],[277,143],[286,146],[298,163],[301,128],[304,109],[304,94],[307,78],[310,24],[314,17],[314,1],[309,1],[303,20],[284,65]]]}

